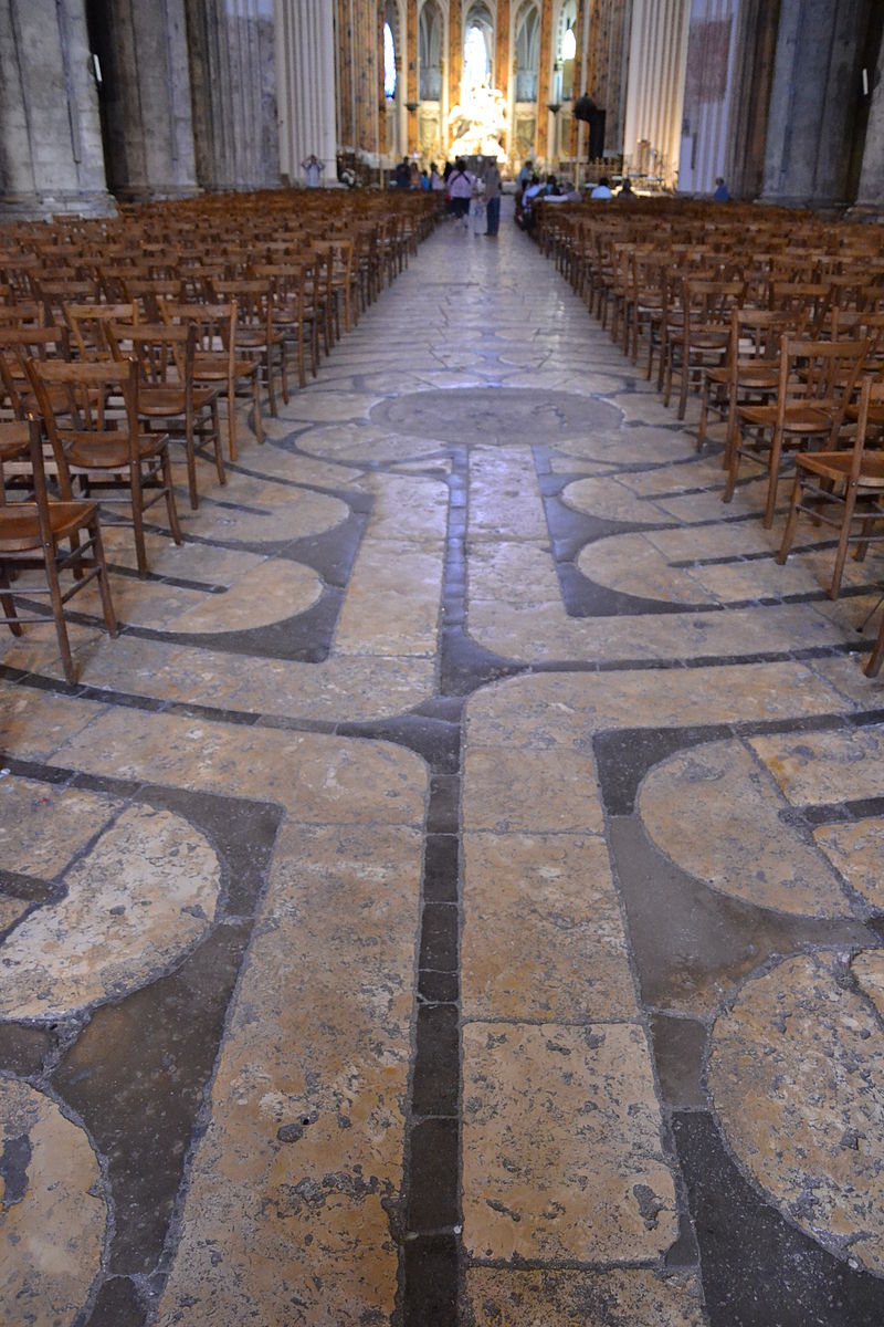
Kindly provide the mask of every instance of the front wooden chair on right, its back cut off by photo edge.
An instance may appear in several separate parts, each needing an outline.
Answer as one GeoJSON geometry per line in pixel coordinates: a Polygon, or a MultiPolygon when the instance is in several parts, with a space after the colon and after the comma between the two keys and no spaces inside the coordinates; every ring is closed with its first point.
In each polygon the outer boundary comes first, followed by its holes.
{"type": "Polygon", "coordinates": [[[869,435],[880,443],[884,431],[884,382],[867,377],[860,390],[856,434],[850,450],[811,451],[795,456],[795,483],[783,541],[777,561],[785,563],[795,539],[801,512],[814,522],[838,529],[835,567],[828,597],[838,598],[850,544],[856,544],[856,561],[863,561],[869,543],[884,539],[884,453],[869,451],[869,435]],[[838,515],[831,515],[834,508],[838,515]],[[859,524],[859,532],[852,533],[859,524]]]}

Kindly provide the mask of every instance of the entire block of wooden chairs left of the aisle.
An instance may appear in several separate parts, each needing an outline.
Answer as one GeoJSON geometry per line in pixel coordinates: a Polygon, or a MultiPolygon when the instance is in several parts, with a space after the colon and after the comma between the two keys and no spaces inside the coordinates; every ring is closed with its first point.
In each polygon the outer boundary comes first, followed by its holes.
{"type": "Polygon", "coordinates": [[[227,479],[219,401],[236,460],[237,394],[248,393],[261,442],[260,387],[277,414],[289,356],[304,386],[433,222],[400,199],[330,200],[300,207],[296,234],[280,195],[200,203],[0,227],[0,620],[15,636],[54,621],[69,682],[66,604],[93,580],[117,632],[99,508],[123,504],[147,575],[155,503],[182,543],[170,442],[184,445],[196,508],[197,447],[227,479]],[[19,588],[34,565],[45,584],[19,588]],[[38,594],[48,613],[30,606],[38,594]]]}

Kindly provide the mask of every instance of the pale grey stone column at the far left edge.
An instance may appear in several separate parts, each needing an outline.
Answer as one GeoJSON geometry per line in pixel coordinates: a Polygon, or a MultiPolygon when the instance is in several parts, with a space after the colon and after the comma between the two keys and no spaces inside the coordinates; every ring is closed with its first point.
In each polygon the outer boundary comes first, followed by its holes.
{"type": "Polygon", "coordinates": [[[0,216],[106,216],[83,0],[0,5],[0,216]]]}

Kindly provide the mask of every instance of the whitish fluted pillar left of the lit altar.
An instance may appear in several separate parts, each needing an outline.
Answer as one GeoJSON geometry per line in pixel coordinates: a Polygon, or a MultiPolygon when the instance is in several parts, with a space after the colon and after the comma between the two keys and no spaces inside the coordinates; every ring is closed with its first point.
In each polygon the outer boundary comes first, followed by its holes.
{"type": "Polygon", "coordinates": [[[274,0],[276,77],[280,107],[280,170],[304,176],[315,153],[323,182],[334,183],[334,23],[329,0],[274,0]]]}

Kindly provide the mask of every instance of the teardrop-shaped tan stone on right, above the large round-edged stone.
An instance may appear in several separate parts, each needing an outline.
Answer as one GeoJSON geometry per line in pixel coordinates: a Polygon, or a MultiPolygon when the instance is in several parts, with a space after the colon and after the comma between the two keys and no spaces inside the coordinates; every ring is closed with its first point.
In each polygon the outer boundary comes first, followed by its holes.
{"type": "Polygon", "coordinates": [[[778,912],[850,917],[840,877],[783,809],[767,771],[736,740],[676,752],[639,794],[653,843],[697,880],[778,912]]]}

